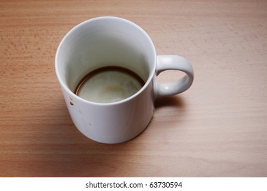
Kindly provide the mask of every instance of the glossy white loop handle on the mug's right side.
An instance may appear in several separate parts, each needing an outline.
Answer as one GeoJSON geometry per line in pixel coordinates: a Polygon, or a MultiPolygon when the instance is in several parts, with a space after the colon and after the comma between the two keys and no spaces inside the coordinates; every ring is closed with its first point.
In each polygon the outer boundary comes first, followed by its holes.
{"type": "Polygon", "coordinates": [[[194,71],[187,59],[178,55],[158,55],[155,74],[159,75],[165,70],[179,70],[186,75],[174,82],[158,83],[155,81],[155,99],[175,95],[186,91],[193,83],[194,71]]]}

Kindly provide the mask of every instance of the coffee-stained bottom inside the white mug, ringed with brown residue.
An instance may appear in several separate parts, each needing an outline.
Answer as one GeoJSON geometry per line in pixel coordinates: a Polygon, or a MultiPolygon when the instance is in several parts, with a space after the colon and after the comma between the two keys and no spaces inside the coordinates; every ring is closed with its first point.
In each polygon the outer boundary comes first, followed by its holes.
{"type": "Polygon", "coordinates": [[[107,66],[84,76],[74,93],[91,102],[112,103],[129,98],[144,83],[138,74],[127,68],[107,66]]]}

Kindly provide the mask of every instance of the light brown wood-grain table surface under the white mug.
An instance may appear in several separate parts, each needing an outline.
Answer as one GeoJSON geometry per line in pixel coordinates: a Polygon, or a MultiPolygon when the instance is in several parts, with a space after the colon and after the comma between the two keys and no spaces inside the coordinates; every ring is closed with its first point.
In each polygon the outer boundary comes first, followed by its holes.
{"type": "Polygon", "coordinates": [[[0,39],[1,177],[267,176],[267,1],[6,0],[0,39]],[[133,21],[157,55],[194,67],[192,87],[157,100],[127,143],[81,134],[55,76],[60,40],[97,16],[133,21]]]}

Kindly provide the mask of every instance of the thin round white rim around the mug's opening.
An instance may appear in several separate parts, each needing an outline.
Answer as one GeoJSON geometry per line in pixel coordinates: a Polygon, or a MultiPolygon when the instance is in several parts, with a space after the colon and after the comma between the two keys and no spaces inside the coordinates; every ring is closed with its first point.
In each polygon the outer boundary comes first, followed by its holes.
{"type": "Polygon", "coordinates": [[[94,104],[94,105],[98,105],[98,106],[111,106],[111,105],[116,105],[116,104],[122,104],[124,102],[128,102],[129,100],[132,100],[133,98],[138,96],[140,93],[142,93],[144,91],[144,89],[147,88],[149,83],[151,83],[151,80],[153,79],[153,76],[155,74],[155,68],[156,68],[155,46],[154,46],[151,38],[147,34],[147,32],[144,31],[144,29],[142,29],[139,25],[136,25],[136,23],[133,23],[130,20],[127,20],[125,18],[120,18],[120,17],[116,17],[116,16],[99,16],[99,17],[96,17],[96,18],[90,18],[88,20],[84,20],[83,22],[79,23],[78,25],[75,25],[75,27],[73,27],[70,31],[68,31],[66,33],[66,35],[64,35],[64,38],[62,38],[62,40],[60,41],[60,44],[58,45],[57,51],[55,53],[55,74],[56,74],[56,76],[58,78],[58,81],[60,82],[60,85],[62,86],[62,88],[64,88],[64,90],[66,90],[68,92],[68,94],[71,94],[73,97],[77,98],[81,102],[86,102],[88,104],[94,104]],[[153,51],[153,67],[152,67],[152,70],[149,70],[149,78],[147,78],[146,83],[144,83],[144,85],[142,86],[142,88],[139,91],[137,91],[136,93],[131,95],[129,98],[125,98],[124,100],[120,100],[118,102],[110,102],[110,103],[91,102],[89,100],[85,100],[84,98],[80,98],[78,95],[73,93],[73,91],[71,91],[71,89],[69,89],[67,87],[67,85],[63,82],[63,80],[62,80],[62,78],[60,76],[60,72],[59,72],[58,57],[59,57],[59,54],[60,54],[60,49],[63,46],[64,42],[66,41],[68,36],[70,36],[76,29],[78,29],[79,27],[82,27],[83,25],[87,25],[88,23],[91,23],[92,21],[95,21],[95,20],[107,20],[107,19],[120,20],[122,22],[129,23],[130,25],[133,25],[134,27],[136,27],[137,29],[139,29],[142,32],[142,34],[147,38],[147,40],[149,40],[149,45],[150,45],[150,47],[152,48],[152,51],[153,51]]]}

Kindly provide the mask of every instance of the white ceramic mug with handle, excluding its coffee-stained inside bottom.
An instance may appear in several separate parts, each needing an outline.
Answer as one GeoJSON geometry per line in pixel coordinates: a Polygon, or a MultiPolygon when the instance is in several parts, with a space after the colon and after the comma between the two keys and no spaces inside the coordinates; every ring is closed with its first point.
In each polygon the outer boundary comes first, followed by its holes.
{"type": "Polygon", "coordinates": [[[73,123],[100,143],[121,143],[138,136],[151,121],[155,100],[186,91],[194,79],[192,65],[185,58],[157,56],[141,27],[113,16],[92,18],[71,29],[58,46],[55,72],[73,123]],[[90,102],[73,93],[88,72],[110,63],[136,72],[144,86],[129,98],[112,103],[90,102]],[[164,70],[179,70],[185,76],[159,83],[156,76],[164,70]]]}

